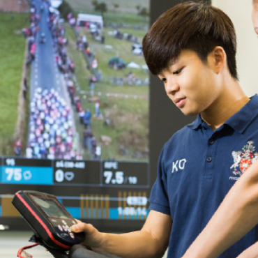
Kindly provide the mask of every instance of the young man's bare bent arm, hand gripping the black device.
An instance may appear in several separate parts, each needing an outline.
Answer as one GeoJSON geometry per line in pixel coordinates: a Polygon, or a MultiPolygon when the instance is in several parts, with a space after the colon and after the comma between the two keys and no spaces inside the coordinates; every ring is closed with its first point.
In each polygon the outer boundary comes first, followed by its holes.
{"type": "Polygon", "coordinates": [[[73,232],[85,232],[83,244],[123,258],[158,258],[164,255],[172,229],[170,215],[150,211],[140,231],[126,234],[100,233],[92,225],[78,223],[73,232]]]}

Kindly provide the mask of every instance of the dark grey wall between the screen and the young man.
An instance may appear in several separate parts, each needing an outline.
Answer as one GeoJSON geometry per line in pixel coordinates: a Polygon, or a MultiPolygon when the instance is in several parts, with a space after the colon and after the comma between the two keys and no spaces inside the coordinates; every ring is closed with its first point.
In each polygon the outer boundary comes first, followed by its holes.
{"type": "MultiPolygon", "coordinates": [[[[151,0],[151,24],[166,10],[181,2],[184,1],[151,0]]],[[[210,0],[206,0],[206,2],[211,3],[210,0]]],[[[191,123],[195,117],[185,116],[172,103],[172,100],[169,100],[164,86],[157,76],[151,75],[150,88],[150,169],[151,185],[153,185],[162,146],[174,132],[191,123]]]]}

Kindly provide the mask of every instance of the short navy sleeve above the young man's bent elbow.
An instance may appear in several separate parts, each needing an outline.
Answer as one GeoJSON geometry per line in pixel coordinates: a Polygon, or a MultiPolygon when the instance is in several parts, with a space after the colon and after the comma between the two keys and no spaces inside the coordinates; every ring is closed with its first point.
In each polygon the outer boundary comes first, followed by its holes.
{"type": "Polygon", "coordinates": [[[165,146],[158,160],[158,176],[151,190],[149,209],[170,215],[169,198],[167,195],[167,174],[163,165],[165,146]]]}

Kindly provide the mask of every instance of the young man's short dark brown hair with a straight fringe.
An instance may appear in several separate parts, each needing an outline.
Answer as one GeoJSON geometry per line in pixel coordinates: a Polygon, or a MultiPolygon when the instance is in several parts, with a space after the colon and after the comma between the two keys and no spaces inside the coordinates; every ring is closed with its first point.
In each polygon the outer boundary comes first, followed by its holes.
{"type": "Polygon", "coordinates": [[[225,50],[229,73],[238,79],[236,31],[232,21],[222,10],[193,1],[179,3],[163,13],[143,40],[144,58],[153,75],[168,68],[182,50],[195,51],[206,63],[216,46],[225,50]]]}

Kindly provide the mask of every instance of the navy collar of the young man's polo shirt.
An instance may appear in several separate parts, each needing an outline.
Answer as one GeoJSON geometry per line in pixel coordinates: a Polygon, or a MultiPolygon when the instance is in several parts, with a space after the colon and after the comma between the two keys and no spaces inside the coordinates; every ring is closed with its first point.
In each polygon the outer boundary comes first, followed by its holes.
{"type": "MultiPolygon", "coordinates": [[[[232,127],[236,132],[242,133],[258,115],[258,96],[255,94],[236,114],[231,116],[225,124],[232,127]]],[[[188,125],[188,128],[195,130],[202,127],[202,118],[198,114],[197,119],[188,125]]]]}

